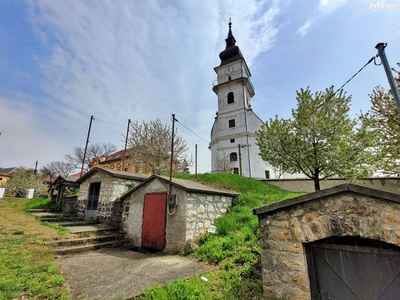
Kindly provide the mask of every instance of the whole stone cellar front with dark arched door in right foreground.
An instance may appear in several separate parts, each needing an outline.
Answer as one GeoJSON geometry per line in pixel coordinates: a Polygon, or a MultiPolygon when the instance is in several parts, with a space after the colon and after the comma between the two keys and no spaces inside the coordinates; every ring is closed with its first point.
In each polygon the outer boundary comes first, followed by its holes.
{"type": "Polygon", "coordinates": [[[266,298],[400,299],[400,194],[344,184],[254,214],[266,298]]]}

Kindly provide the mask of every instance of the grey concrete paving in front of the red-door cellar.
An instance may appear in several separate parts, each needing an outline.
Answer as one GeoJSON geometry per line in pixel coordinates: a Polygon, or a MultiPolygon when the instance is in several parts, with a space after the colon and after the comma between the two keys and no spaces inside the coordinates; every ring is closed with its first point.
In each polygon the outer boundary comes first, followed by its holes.
{"type": "Polygon", "coordinates": [[[59,264],[73,299],[127,299],[151,287],[214,269],[187,257],[126,249],[60,257],[59,264]]]}

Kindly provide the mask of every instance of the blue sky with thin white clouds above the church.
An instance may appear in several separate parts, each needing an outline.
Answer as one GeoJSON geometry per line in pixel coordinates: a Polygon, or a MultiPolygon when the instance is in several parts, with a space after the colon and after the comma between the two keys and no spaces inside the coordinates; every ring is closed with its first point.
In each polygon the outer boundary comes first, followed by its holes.
{"type": "MultiPolygon", "coordinates": [[[[198,171],[207,172],[214,67],[229,18],[252,72],[253,110],[266,121],[289,118],[300,88],[340,87],[379,42],[396,66],[400,1],[380,4],[392,8],[357,0],[3,0],[0,167],[63,160],[85,146],[91,115],[90,142],[123,149],[128,119],[171,124],[175,114],[189,155],[197,144],[198,171]]],[[[389,89],[373,63],[346,85],[352,116],[369,109],[378,85],[389,89]]]]}

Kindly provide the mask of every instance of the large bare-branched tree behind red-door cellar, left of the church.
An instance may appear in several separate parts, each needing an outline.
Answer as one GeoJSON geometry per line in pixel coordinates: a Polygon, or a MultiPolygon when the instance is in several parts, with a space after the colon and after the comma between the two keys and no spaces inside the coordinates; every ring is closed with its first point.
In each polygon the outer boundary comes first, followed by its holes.
{"type": "MultiPolygon", "coordinates": [[[[136,171],[165,175],[169,173],[171,161],[172,129],[155,121],[131,123],[128,148],[132,165],[136,171]]],[[[173,173],[187,173],[192,159],[188,159],[185,152],[187,144],[181,136],[174,132],[174,160],[173,173]]]]}

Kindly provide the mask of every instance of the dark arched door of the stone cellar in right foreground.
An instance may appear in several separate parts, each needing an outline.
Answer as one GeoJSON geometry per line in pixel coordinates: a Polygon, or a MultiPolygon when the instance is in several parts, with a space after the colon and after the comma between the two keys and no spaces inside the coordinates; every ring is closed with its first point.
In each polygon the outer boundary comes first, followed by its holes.
{"type": "Polygon", "coordinates": [[[312,299],[400,299],[399,248],[360,239],[306,245],[312,299]]]}

